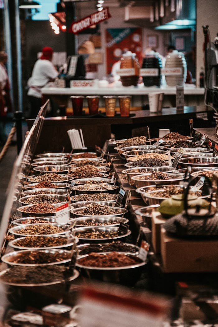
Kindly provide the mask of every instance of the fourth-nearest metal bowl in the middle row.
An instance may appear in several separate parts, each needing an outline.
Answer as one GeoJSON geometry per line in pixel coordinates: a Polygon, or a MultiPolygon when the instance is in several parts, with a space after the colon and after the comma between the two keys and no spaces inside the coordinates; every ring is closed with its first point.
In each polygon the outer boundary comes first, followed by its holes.
{"type": "Polygon", "coordinates": [[[120,223],[127,224],[128,219],[121,218],[121,217],[114,217],[114,216],[107,216],[107,217],[100,217],[99,216],[92,216],[92,217],[82,217],[77,218],[75,226],[77,227],[101,227],[101,226],[119,226],[120,223]],[[92,225],[87,225],[87,223],[92,223],[92,225]],[[110,222],[108,224],[108,222],[110,222]]]}

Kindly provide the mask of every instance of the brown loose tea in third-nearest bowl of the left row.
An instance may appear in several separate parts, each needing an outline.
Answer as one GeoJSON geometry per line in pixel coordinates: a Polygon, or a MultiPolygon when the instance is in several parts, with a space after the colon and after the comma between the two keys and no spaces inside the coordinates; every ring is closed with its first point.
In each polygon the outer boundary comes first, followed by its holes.
{"type": "Polygon", "coordinates": [[[26,236],[14,243],[21,248],[48,248],[64,244],[67,244],[67,237],[54,236],[26,236]]]}

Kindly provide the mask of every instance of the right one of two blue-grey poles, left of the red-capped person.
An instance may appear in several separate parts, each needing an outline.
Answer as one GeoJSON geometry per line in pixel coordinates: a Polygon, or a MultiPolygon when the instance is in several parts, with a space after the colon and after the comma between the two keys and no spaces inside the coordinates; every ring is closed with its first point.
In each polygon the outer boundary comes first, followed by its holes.
{"type": "Polygon", "coordinates": [[[18,109],[23,111],[23,88],[22,88],[22,58],[21,58],[21,30],[19,0],[15,0],[15,26],[17,47],[17,87],[18,87],[18,109]]]}

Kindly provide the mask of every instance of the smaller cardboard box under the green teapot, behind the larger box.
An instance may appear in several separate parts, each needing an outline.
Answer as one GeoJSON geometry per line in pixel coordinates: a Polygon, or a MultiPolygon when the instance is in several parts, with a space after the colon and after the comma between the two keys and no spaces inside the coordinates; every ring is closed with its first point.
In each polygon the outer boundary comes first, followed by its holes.
{"type": "Polygon", "coordinates": [[[160,253],[160,229],[162,224],[166,222],[166,219],[163,219],[162,215],[159,212],[153,211],[151,213],[151,224],[152,224],[152,245],[154,252],[160,253]]]}

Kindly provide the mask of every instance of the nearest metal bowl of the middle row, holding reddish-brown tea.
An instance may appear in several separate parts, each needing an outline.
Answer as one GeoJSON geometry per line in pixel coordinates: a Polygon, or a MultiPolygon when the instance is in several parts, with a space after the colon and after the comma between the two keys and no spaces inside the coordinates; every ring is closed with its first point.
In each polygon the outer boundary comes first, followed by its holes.
{"type": "MultiPolygon", "coordinates": [[[[106,253],[108,252],[102,252],[101,254],[106,254],[106,253]]],[[[125,253],[129,255],[129,253],[127,252],[118,252],[118,253],[122,253],[122,254],[125,253]]],[[[79,258],[83,258],[86,256],[88,256],[88,254],[85,254],[79,258]]],[[[141,262],[136,265],[126,266],[126,267],[108,267],[108,268],[87,267],[87,266],[80,265],[78,263],[78,259],[76,262],[76,266],[80,268],[81,274],[83,276],[97,279],[100,281],[107,281],[111,283],[118,283],[128,286],[133,286],[134,284],[136,284],[136,282],[138,282],[145,265],[145,262],[141,262]]]]}

